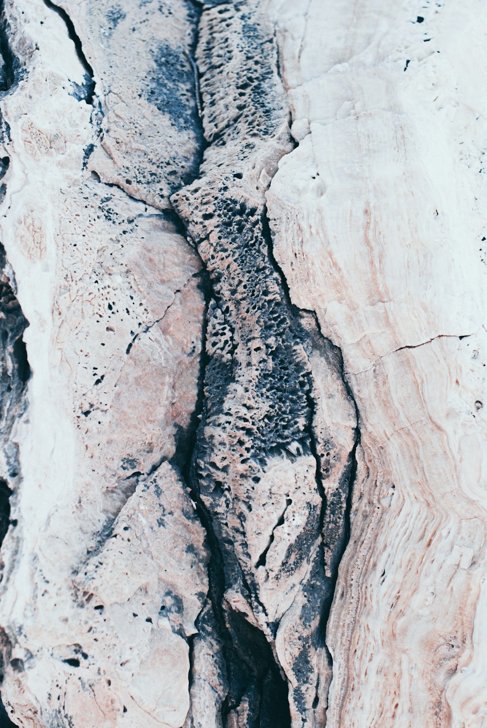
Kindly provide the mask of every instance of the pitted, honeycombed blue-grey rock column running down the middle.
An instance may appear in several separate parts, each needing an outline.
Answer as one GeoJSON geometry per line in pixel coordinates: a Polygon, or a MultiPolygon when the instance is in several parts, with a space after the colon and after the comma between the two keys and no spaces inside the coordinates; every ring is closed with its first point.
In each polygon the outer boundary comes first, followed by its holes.
{"type": "Polygon", "coordinates": [[[217,607],[231,638],[223,724],[277,725],[264,709],[274,694],[280,725],[313,726],[326,705],[322,617],[344,548],[355,408],[269,256],[265,192],[292,143],[258,3],[205,9],[197,63],[209,146],[197,181],[171,202],[213,285],[193,477],[221,550],[217,607]],[[264,637],[269,676],[258,667],[264,637]]]}

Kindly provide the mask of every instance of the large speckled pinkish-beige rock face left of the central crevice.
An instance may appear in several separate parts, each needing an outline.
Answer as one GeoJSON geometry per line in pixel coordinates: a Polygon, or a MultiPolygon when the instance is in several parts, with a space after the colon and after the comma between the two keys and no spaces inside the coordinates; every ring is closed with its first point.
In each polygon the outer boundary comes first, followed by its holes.
{"type": "Polygon", "coordinates": [[[22,78],[2,102],[1,240],[32,374],[12,433],[2,697],[25,726],[181,726],[207,551],[164,461],[197,400],[201,264],[171,218],[84,168],[98,130],[63,18],[33,0],[6,13],[22,78]]]}

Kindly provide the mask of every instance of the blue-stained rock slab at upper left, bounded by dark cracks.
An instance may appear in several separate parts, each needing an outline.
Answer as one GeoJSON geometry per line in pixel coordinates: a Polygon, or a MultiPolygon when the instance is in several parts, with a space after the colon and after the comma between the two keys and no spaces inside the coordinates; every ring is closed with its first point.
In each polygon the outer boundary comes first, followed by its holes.
{"type": "MultiPolygon", "coordinates": [[[[202,144],[191,0],[62,0],[76,28],[98,130],[85,164],[159,208],[197,175],[202,144]]],[[[76,85],[75,85],[76,92],[76,85]]]]}

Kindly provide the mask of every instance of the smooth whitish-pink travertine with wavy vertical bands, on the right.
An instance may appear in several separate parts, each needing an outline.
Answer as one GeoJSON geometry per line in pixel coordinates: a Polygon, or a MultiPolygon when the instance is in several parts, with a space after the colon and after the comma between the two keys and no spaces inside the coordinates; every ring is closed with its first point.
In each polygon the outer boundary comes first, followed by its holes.
{"type": "Polygon", "coordinates": [[[298,141],[267,197],[274,255],[343,352],[368,467],[327,725],[484,725],[485,12],[274,14],[298,141]]]}

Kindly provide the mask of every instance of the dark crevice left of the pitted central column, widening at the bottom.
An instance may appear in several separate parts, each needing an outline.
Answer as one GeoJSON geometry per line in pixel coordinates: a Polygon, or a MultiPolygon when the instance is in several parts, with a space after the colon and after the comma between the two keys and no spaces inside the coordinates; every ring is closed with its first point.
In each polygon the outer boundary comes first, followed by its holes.
{"type": "MultiPolygon", "coordinates": [[[[220,4],[220,3],[215,3],[220,4]]],[[[210,7],[210,4],[206,4],[210,7]]],[[[196,48],[198,37],[195,38],[194,47],[196,48]]],[[[195,74],[195,94],[198,106],[199,100],[199,73],[196,63],[191,64],[195,74]]],[[[198,108],[201,118],[204,114],[203,108],[198,108]]],[[[221,136],[221,134],[219,135],[221,136]]],[[[214,138],[203,138],[201,148],[201,160],[204,157],[205,150],[210,144],[215,144],[214,138]]],[[[199,172],[195,175],[195,179],[199,178],[199,172]]],[[[184,220],[181,217],[181,223],[184,220]]],[[[185,225],[186,229],[186,225],[185,225]]],[[[189,230],[187,237],[191,240],[189,230]]],[[[195,244],[195,248],[197,245],[195,244]]],[[[203,262],[203,261],[202,261],[203,262]]],[[[204,262],[203,262],[204,264],[204,262]]],[[[205,298],[206,312],[204,325],[204,340],[207,341],[207,325],[210,311],[210,304],[215,306],[221,312],[223,320],[227,321],[226,305],[221,300],[221,296],[215,288],[215,280],[212,280],[218,274],[205,275],[205,298]]],[[[230,345],[231,348],[231,345],[230,345]]],[[[210,359],[205,346],[202,349],[202,357],[200,361],[200,378],[199,378],[199,396],[197,406],[194,410],[194,417],[191,423],[191,432],[186,432],[184,438],[181,439],[181,447],[174,459],[181,472],[181,477],[189,487],[191,498],[195,503],[199,520],[205,528],[207,534],[207,544],[210,553],[210,563],[208,568],[209,590],[208,598],[213,609],[213,615],[216,623],[216,632],[221,641],[222,657],[226,669],[226,683],[228,684],[228,692],[221,705],[221,720],[223,726],[228,721],[234,721],[233,711],[239,708],[242,700],[249,700],[249,711],[256,720],[256,725],[262,728],[279,726],[285,728],[290,725],[290,713],[288,705],[288,688],[282,678],[280,667],[277,665],[272,647],[269,644],[264,632],[250,624],[244,614],[235,612],[231,608],[225,608],[224,595],[227,584],[226,565],[224,550],[228,547],[224,544],[223,535],[221,534],[221,524],[214,521],[214,514],[202,499],[202,493],[199,482],[199,472],[197,463],[197,454],[201,443],[205,440],[205,417],[207,414],[207,392],[205,386],[209,384],[212,377],[208,378],[208,367],[212,365],[213,360],[210,359]],[[221,540],[223,539],[223,541],[221,540]],[[271,697],[272,696],[272,697],[271,697]]],[[[226,381],[226,384],[229,384],[226,381]]],[[[200,453],[201,454],[201,453],[200,453]]],[[[248,591],[248,595],[253,594],[247,584],[245,574],[238,564],[234,565],[239,571],[239,581],[244,590],[248,591]]],[[[262,607],[263,611],[264,607],[262,607]]],[[[197,628],[200,628],[197,620],[197,628]]]]}

